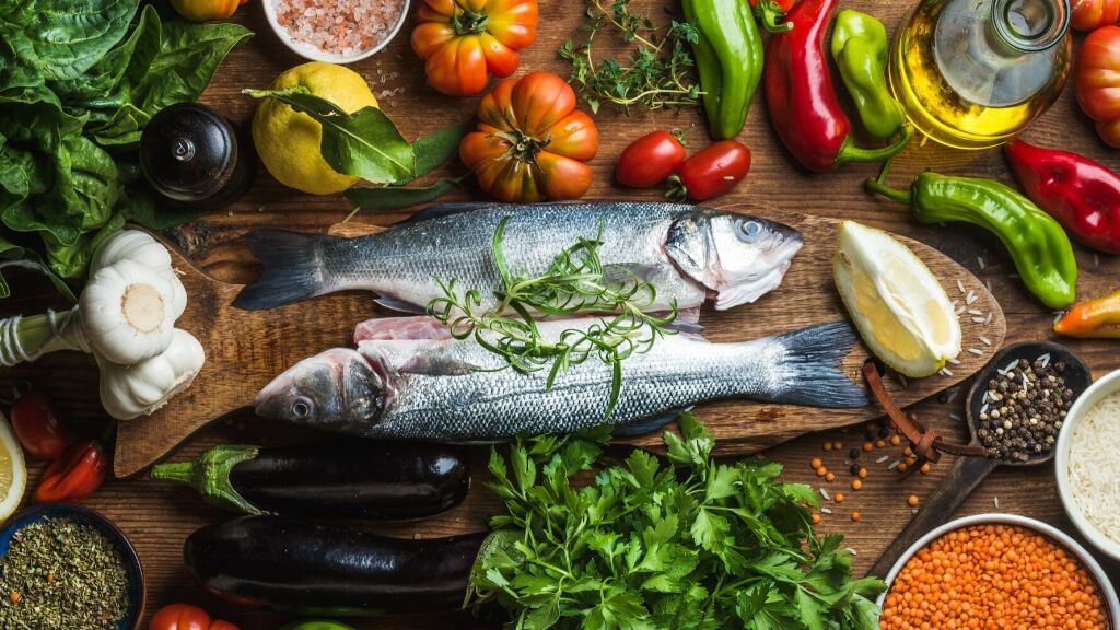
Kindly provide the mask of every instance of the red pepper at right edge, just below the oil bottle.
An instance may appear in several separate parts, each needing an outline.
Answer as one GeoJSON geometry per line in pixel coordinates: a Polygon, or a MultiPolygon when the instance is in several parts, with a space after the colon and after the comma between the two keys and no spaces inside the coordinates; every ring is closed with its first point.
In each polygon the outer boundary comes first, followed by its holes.
{"type": "Polygon", "coordinates": [[[1076,240],[1120,253],[1120,175],[1084,156],[1015,140],[1007,159],[1023,192],[1076,240]]]}

